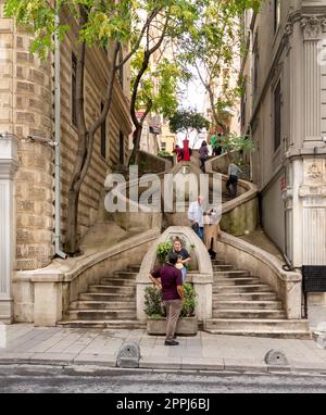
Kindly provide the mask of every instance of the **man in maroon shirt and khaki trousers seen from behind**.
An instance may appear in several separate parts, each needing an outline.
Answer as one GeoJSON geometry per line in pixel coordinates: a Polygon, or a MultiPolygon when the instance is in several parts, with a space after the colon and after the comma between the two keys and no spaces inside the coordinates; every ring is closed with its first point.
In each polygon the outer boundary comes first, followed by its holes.
{"type": "Polygon", "coordinates": [[[183,274],[175,267],[178,261],[176,253],[168,255],[168,263],[151,273],[150,279],[162,289],[162,298],[166,310],[166,339],[165,345],[177,345],[175,329],[183,310],[185,298],[183,274]]]}

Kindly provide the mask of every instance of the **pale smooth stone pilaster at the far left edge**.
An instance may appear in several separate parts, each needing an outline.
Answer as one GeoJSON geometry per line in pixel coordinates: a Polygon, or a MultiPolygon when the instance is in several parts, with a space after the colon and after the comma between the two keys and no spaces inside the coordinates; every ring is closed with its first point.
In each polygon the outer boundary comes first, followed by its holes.
{"type": "Polygon", "coordinates": [[[13,177],[18,168],[17,139],[0,135],[0,322],[12,323],[13,299],[13,177]]]}

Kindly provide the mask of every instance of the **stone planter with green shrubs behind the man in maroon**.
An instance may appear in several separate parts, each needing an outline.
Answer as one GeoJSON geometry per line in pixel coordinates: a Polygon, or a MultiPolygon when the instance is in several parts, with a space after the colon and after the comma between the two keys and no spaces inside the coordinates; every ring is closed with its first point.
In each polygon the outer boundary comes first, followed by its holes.
{"type": "MultiPolygon", "coordinates": [[[[184,307],[176,327],[176,335],[196,336],[198,332],[198,318],[195,315],[197,294],[190,284],[185,284],[184,289],[184,307]]],[[[161,291],[156,287],[146,288],[145,306],[145,313],[148,316],[147,332],[164,336],[166,334],[166,314],[161,291]]]]}

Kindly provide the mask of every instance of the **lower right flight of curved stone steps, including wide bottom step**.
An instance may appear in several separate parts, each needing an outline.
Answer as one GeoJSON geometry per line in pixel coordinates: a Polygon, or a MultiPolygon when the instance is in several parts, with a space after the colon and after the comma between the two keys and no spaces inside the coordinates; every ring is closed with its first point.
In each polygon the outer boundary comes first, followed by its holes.
{"type": "Polygon", "coordinates": [[[248,271],[213,261],[213,318],[204,330],[215,335],[310,338],[308,320],[289,320],[272,288],[248,271]]]}

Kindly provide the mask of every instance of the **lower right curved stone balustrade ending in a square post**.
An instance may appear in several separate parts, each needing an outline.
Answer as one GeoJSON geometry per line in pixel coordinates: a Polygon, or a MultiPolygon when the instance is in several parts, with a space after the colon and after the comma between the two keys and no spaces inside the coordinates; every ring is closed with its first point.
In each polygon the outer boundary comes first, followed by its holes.
{"type": "Polygon", "coordinates": [[[283,301],[288,319],[301,318],[300,273],[286,272],[283,263],[266,251],[231,235],[222,232],[217,241],[218,255],[239,269],[248,269],[252,275],[268,284],[283,301]]]}

